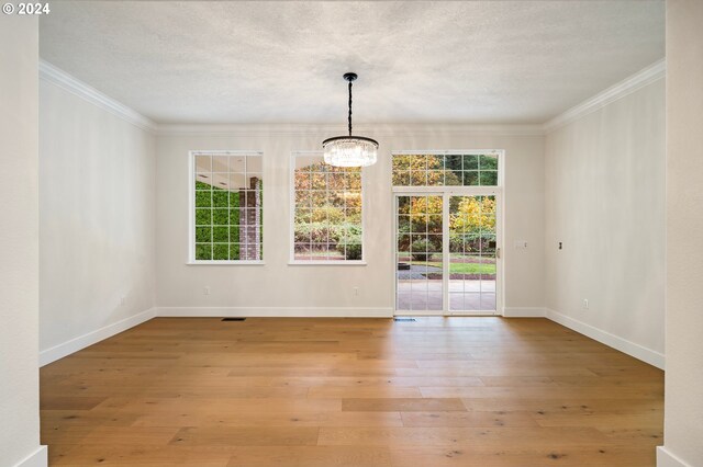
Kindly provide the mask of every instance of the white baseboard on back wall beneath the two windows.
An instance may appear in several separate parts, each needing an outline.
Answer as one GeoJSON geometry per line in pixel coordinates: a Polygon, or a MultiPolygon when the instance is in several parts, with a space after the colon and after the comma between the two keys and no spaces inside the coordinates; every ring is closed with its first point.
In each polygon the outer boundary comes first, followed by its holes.
{"type": "Polygon", "coordinates": [[[168,318],[392,318],[392,308],[358,307],[158,307],[168,318]]]}

